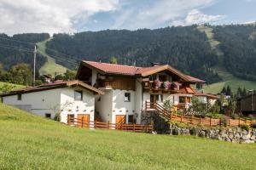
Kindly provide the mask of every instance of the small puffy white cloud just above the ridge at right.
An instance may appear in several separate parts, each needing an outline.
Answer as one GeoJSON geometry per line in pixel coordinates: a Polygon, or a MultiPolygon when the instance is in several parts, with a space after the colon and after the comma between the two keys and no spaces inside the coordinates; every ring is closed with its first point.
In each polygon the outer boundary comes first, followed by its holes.
{"type": "Polygon", "coordinates": [[[214,23],[224,19],[224,15],[203,14],[198,9],[192,9],[184,20],[174,20],[173,26],[188,26],[193,24],[214,23]]]}

